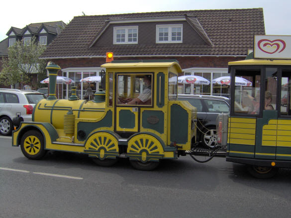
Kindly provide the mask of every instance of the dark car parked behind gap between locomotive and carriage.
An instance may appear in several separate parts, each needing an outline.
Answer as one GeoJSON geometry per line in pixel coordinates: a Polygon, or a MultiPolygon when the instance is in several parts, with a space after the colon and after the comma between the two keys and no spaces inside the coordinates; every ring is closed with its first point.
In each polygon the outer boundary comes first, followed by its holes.
{"type": "Polygon", "coordinates": [[[178,95],[197,108],[196,142],[213,148],[216,144],[216,118],[219,113],[229,113],[229,98],[212,95],[178,95]]]}

